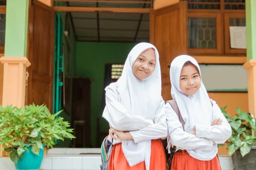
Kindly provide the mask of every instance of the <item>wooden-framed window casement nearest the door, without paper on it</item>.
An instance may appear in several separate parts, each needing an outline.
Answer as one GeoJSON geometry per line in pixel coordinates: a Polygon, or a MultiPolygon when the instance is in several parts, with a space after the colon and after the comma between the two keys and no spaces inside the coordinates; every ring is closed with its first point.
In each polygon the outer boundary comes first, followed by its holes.
{"type": "Polygon", "coordinates": [[[218,13],[188,14],[189,53],[221,53],[221,15],[218,13]]]}

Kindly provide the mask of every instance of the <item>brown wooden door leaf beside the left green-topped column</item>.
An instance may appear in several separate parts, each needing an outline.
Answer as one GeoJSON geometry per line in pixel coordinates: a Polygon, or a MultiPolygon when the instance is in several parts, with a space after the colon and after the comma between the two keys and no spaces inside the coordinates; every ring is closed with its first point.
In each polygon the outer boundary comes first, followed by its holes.
{"type": "Polygon", "coordinates": [[[33,2],[28,21],[27,56],[31,66],[27,104],[45,104],[52,112],[55,12],[38,0],[33,2]]]}

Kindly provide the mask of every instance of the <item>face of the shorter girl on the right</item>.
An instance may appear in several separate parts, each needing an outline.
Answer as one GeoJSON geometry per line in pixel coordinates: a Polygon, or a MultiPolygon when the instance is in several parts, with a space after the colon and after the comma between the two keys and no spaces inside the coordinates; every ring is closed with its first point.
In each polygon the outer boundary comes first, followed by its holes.
{"type": "Polygon", "coordinates": [[[180,90],[186,95],[193,95],[200,87],[201,77],[198,68],[191,62],[186,62],[180,73],[180,90]]]}

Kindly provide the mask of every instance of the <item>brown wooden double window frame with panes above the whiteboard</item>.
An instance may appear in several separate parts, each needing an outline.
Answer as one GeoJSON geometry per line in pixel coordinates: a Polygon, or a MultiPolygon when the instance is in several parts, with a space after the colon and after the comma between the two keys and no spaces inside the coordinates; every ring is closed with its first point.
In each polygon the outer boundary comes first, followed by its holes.
{"type": "Polygon", "coordinates": [[[230,26],[245,26],[245,0],[187,0],[189,54],[246,54],[230,47],[230,26]]]}

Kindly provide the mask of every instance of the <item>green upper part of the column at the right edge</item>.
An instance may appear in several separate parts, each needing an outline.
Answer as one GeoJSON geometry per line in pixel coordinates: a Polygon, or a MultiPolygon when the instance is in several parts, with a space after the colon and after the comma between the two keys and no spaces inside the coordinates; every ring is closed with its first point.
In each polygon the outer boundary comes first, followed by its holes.
{"type": "Polygon", "coordinates": [[[256,0],[245,0],[247,61],[256,59],[256,0]]]}

